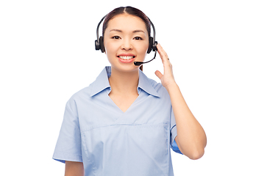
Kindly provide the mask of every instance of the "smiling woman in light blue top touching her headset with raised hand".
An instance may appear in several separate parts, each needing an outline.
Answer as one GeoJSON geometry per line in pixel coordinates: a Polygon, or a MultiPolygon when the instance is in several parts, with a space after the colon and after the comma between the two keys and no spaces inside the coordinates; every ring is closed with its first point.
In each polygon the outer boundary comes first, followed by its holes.
{"type": "Polygon", "coordinates": [[[173,175],[170,147],[191,159],[204,154],[205,131],[161,45],[164,73],[155,74],[162,84],[134,65],[145,59],[149,36],[150,21],[141,10],[119,7],[105,18],[104,53],[111,67],[66,104],[53,157],[65,163],[65,175],[173,175]]]}

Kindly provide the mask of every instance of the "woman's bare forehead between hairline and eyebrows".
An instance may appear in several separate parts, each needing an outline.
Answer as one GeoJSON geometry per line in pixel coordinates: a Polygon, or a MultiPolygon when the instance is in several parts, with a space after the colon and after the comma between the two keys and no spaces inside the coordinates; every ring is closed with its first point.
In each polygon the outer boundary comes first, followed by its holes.
{"type": "Polygon", "coordinates": [[[107,24],[107,29],[110,31],[111,29],[121,29],[126,31],[134,31],[134,30],[143,30],[146,31],[146,24],[144,21],[134,15],[129,14],[121,14],[116,15],[113,19],[111,19],[107,24]]]}

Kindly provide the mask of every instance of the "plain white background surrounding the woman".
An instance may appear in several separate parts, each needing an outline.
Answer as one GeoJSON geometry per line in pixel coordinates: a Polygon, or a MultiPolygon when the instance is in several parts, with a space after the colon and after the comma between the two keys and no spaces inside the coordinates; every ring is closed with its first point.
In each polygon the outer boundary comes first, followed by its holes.
{"type": "MultiPolygon", "coordinates": [[[[201,159],[171,153],[174,175],[256,175],[256,3],[249,0],[1,1],[0,175],[64,175],[51,157],[65,103],[109,65],[94,49],[96,26],[127,5],[151,18],[207,133],[201,159]]],[[[144,73],[159,82],[155,70],[163,71],[158,55],[144,73]]]]}

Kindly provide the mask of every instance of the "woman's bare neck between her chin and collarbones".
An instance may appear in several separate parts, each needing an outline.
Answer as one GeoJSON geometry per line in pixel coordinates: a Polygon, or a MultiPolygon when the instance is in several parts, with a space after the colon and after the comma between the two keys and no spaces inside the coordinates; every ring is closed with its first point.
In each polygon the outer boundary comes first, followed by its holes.
{"type": "Polygon", "coordinates": [[[138,94],[138,78],[139,70],[132,72],[120,72],[111,68],[111,76],[109,78],[111,92],[118,94],[138,94]]]}

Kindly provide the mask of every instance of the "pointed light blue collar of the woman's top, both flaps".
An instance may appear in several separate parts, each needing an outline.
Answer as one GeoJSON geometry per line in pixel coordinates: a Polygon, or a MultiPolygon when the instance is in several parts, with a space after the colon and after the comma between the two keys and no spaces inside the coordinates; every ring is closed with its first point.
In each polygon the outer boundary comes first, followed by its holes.
{"type": "MultiPolygon", "coordinates": [[[[111,67],[110,66],[104,67],[102,72],[99,74],[99,76],[96,78],[96,80],[92,84],[90,97],[93,97],[99,92],[102,92],[102,90],[104,89],[111,88],[110,82],[108,81],[108,78],[110,77],[110,75],[111,75],[111,67]]],[[[157,91],[154,89],[153,85],[149,81],[149,78],[146,77],[146,75],[141,70],[139,73],[138,88],[143,89],[143,91],[147,92],[149,95],[160,97],[160,95],[157,93],[157,91]]]]}

